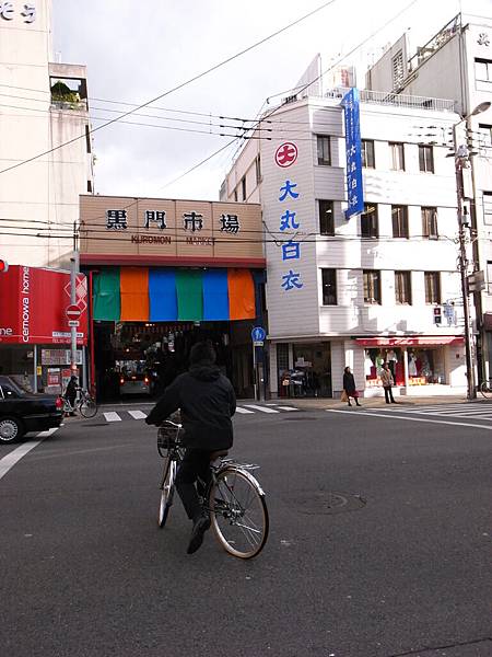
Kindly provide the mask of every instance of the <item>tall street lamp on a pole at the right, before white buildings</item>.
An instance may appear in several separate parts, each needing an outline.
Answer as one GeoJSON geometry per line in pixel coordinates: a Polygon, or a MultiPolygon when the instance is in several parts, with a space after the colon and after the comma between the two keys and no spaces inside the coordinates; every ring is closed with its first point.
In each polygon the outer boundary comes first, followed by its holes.
{"type": "Polygon", "coordinates": [[[453,126],[453,149],[455,157],[455,173],[456,173],[456,195],[457,195],[457,209],[458,209],[458,228],[459,228],[459,269],[461,276],[461,295],[462,295],[462,307],[464,307],[464,315],[465,315],[465,358],[466,358],[466,368],[467,368],[467,397],[469,400],[475,399],[476,396],[476,384],[475,384],[475,366],[473,358],[471,351],[472,345],[472,335],[471,335],[471,326],[470,326],[470,307],[469,307],[469,297],[468,297],[468,257],[467,257],[467,249],[466,249],[466,237],[465,237],[465,228],[468,228],[468,222],[464,221],[464,211],[462,211],[462,198],[464,198],[464,189],[462,189],[462,169],[468,163],[470,158],[470,152],[468,151],[467,146],[458,147],[458,137],[457,137],[457,128],[460,124],[468,120],[471,116],[477,116],[477,114],[481,114],[482,112],[487,112],[491,106],[490,102],[480,103],[477,107],[470,112],[467,116],[464,116],[458,123],[453,126]]]}

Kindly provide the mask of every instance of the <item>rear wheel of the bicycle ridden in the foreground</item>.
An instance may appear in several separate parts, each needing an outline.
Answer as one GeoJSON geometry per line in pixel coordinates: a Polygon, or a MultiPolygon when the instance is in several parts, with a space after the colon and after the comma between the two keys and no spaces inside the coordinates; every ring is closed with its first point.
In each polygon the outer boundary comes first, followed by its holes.
{"type": "Polygon", "coordinates": [[[209,506],[213,531],[226,552],[238,558],[261,552],[268,538],[268,509],[253,475],[239,468],[221,470],[209,506]]]}

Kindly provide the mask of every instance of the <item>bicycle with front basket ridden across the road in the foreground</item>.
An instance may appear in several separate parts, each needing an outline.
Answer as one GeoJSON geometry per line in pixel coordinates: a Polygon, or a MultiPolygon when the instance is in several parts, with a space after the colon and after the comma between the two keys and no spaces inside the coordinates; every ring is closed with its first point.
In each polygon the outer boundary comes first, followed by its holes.
{"type": "MultiPolygon", "coordinates": [[[[164,459],[161,477],[159,527],[163,528],[173,505],[176,473],[185,456],[180,440],[183,425],[165,420],[157,433],[157,451],[164,459]]],[[[222,548],[238,558],[253,558],[265,546],[269,518],[265,493],[250,473],[259,465],[226,459],[227,451],[210,454],[211,481],[198,480],[203,509],[210,514],[211,527],[222,548]]]]}

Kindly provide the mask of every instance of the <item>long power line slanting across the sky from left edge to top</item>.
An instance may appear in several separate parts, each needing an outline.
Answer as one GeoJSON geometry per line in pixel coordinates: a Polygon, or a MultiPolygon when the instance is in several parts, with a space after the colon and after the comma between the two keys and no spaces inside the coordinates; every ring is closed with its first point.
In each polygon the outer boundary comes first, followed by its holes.
{"type": "MultiPolygon", "coordinates": [[[[220,61],[219,64],[210,67],[209,69],[207,69],[206,71],[202,71],[201,73],[198,73],[196,76],[194,76],[192,78],[189,78],[188,80],[186,80],[185,82],[181,82],[179,84],[177,84],[176,87],[174,87],[173,89],[169,89],[161,94],[159,94],[157,96],[155,96],[154,99],[142,103],[141,105],[139,105],[138,107],[133,108],[133,110],[129,110],[128,112],[126,112],[125,114],[122,114],[119,117],[115,117],[104,124],[102,124],[101,126],[97,126],[96,128],[92,128],[91,130],[89,130],[89,135],[93,135],[94,132],[102,130],[103,128],[106,128],[115,123],[120,122],[122,118],[130,116],[131,114],[134,114],[136,112],[138,112],[139,110],[143,110],[143,107],[148,107],[149,105],[151,105],[152,103],[155,103],[157,101],[160,101],[161,99],[183,89],[184,87],[187,87],[188,84],[191,84],[192,82],[196,82],[197,80],[203,78],[204,76],[208,76],[209,73],[218,70],[219,68],[225,66],[226,64],[233,61],[234,59],[237,59],[238,57],[245,55],[246,53],[249,53],[250,50],[253,50],[254,48],[257,48],[258,46],[262,45],[263,43],[270,41],[271,38],[278,36],[279,34],[282,34],[283,32],[285,32],[286,30],[290,30],[291,27],[293,27],[294,25],[297,25],[298,23],[301,23],[302,21],[311,18],[312,15],[318,13],[319,11],[321,11],[323,9],[326,9],[327,7],[329,7],[330,4],[333,4],[335,2],[337,2],[337,0],[329,0],[328,2],[325,2],[324,4],[317,7],[316,9],[314,9],[313,11],[304,14],[303,16],[301,16],[300,19],[293,21],[292,23],[289,23],[288,25],[285,25],[284,27],[281,27],[280,30],[277,30],[276,32],[273,32],[272,34],[268,35],[267,37],[256,42],[255,44],[248,46],[247,48],[244,48],[243,50],[241,50],[239,53],[236,53],[235,55],[232,55],[231,57],[220,61]]],[[[32,158],[28,158],[22,162],[17,162],[16,164],[12,164],[11,166],[8,166],[7,169],[2,169],[0,170],[0,173],[7,173],[8,171],[12,171],[13,169],[16,169],[19,166],[22,166],[24,164],[27,164],[30,162],[33,162],[34,160],[37,160],[38,158],[43,158],[44,155],[48,155],[49,153],[63,148],[65,146],[69,146],[70,143],[73,143],[74,141],[79,141],[80,139],[85,139],[87,137],[87,134],[84,132],[83,135],[79,135],[78,137],[74,137],[73,139],[69,139],[68,141],[65,141],[63,143],[59,143],[56,147],[52,147],[51,149],[44,151],[42,153],[38,153],[37,155],[34,155],[32,158]]]]}

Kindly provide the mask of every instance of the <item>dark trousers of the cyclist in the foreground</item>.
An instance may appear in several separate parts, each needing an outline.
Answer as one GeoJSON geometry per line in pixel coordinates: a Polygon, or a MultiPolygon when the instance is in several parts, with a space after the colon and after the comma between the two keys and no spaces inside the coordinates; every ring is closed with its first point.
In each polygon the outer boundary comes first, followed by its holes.
{"type": "MultiPolygon", "coordinates": [[[[197,477],[200,477],[206,486],[209,484],[210,454],[210,451],[202,449],[187,449],[176,475],[176,489],[190,520],[195,520],[202,511],[196,482],[197,477]]],[[[200,493],[203,495],[204,489],[200,493]]]]}

